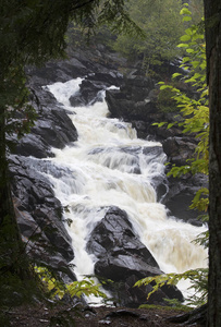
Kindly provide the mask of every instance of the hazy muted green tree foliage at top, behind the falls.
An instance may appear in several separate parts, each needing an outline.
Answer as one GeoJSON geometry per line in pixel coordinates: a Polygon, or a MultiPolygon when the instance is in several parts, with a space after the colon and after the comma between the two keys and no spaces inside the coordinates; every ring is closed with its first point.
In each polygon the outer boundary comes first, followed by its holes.
{"type": "Polygon", "coordinates": [[[128,12],[134,22],[145,32],[145,37],[121,35],[114,45],[116,51],[131,59],[143,58],[144,69],[161,65],[163,60],[177,56],[175,45],[182,35],[182,19],[177,0],[131,0],[128,12]]]}

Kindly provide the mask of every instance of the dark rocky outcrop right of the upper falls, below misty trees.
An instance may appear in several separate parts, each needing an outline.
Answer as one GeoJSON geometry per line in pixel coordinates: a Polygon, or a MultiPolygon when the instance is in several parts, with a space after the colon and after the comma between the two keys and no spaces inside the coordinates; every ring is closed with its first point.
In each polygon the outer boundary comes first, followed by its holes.
{"type": "Polygon", "coordinates": [[[182,131],[175,126],[156,128],[155,122],[174,122],[179,113],[165,113],[158,108],[158,86],[150,77],[140,74],[138,70],[124,76],[120,89],[106,92],[106,100],[111,117],[121,118],[133,123],[140,138],[163,141],[167,137],[181,136],[182,131]]]}

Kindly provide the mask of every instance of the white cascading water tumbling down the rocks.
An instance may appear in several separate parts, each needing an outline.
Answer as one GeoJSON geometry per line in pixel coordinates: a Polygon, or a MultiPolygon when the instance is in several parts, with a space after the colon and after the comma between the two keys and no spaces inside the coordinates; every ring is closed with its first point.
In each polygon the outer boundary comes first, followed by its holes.
{"type": "Polygon", "coordinates": [[[72,171],[69,178],[50,178],[57,197],[69,206],[66,218],[73,221],[69,233],[77,277],[94,272],[94,257],[85,250],[87,235],[112,205],[127,213],[140,241],[164,272],[206,267],[207,252],[192,243],[206,228],[168,217],[164,205],[157,203],[154,179],[164,174],[165,155],[156,156],[151,150],[148,155],[148,148],[161,145],[138,140],[130,123],[107,118],[105,99],[88,107],[71,107],[69,97],[81,82],[76,78],[47,86],[73,112],[70,117],[78,132],[76,143],[54,148],[56,157],[48,159],[72,171]],[[137,169],[139,173],[135,173],[137,169]]]}

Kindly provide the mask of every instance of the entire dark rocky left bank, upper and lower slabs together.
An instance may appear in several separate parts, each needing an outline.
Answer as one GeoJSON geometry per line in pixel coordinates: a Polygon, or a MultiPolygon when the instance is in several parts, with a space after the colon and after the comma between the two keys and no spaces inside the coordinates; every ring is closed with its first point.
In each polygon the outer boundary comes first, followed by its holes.
{"type": "MultiPolygon", "coordinates": [[[[40,73],[44,74],[42,71],[40,73]]],[[[47,81],[41,76],[40,83],[47,81]]],[[[26,251],[33,261],[37,265],[49,266],[65,281],[72,281],[76,279],[69,267],[74,258],[72,240],[62,221],[62,205],[54,195],[51,181],[44,174],[49,169],[59,173],[59,168],[37,159],[53,157],[52,147],[63,148],[75,142],[77,131],[62,106],[38,85],[36,76],[29,80],[29,88],[37,113],[36,123],[30,133],[19,142],[13,135],[9,137],[14,143],[10,173],[15,214],[26,251]]]]}

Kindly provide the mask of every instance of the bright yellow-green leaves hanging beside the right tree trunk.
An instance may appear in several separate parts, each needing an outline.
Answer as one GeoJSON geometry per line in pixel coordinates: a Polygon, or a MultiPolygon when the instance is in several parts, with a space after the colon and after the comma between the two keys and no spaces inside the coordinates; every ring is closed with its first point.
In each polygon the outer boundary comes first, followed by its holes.
{"type": "MultiPolygon", "coordinates": [[[[192,20],[191,11],[185,7],[181,14],[184,15],[184,21],[188,17],[192,20]]],[[[188,72],[186,75],[180,73],[173,74],[173,80],[177,77],[184,83],[192,85],[195,89],[195,98],[189,97],[177,87],[171,84],[160,82],[160,89],[164,93],[167,90],[172,94],[172,99],[176,102],[180,113],[183,117],[182,121],[176,122],[183,129],[183,133],[193,135],[197,141],[195,157],[188,160],[185,166],[173,166],[169,175],[181,177],[187,172],[208,174],[209,162],[209,107],[208,107],[208,87],[206,84],[206,53],[205,39],[201,32],[201,24],[192,25],[185,29],[185,35],[181,37],[183,41],[177,47],[184,48],[188,56],[182,60],[181,68],[188,72]]],[[[168,125],[168,129],[175,123],[168,124],[167,122],[155,123],[155,125],[168,125]]],[[[208,190],[200,189],[191,206],[192,209],[198,210],[208,209],[208,190]]]]}

